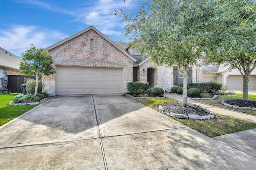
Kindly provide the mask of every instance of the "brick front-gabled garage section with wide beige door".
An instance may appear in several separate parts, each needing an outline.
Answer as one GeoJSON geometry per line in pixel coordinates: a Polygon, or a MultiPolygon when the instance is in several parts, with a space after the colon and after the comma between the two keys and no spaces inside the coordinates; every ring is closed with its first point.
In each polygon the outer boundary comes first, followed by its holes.
{"type": "Polygon", "coordinates": [[[56,73],[42,76],[44,92],[55,95],[124,94],[136,59],[90,26],[45,49],[56,73]]]}

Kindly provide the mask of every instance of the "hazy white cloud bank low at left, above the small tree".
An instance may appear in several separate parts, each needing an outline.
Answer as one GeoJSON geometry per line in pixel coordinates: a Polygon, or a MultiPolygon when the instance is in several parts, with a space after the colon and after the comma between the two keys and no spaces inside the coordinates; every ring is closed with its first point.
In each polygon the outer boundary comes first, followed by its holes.
{"type": "Polygon", "coordinates": [[[33,44],[37,48],[46,48],[65,39],[65,35],[58,31],[42,29],[36,26],[13,25],[8,29],[0,30],[0,47],[20,56],[21,53],[33,44]]]}

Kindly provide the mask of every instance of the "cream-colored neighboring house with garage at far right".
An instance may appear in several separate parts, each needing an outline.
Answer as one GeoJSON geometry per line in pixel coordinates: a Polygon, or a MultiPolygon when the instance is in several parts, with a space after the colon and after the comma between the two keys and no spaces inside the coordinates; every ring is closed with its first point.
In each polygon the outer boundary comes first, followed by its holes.
{"type": "MultiPolygon", "coordinates": [[[[224,64],[203,66],[203,82],[215,81],[227,85],[228,90],[243,90],[243,78],[239,70],[228,68],[224,64]]],[[[250,74],[248,90],[256,90],[256,69],[250,74]]]]}

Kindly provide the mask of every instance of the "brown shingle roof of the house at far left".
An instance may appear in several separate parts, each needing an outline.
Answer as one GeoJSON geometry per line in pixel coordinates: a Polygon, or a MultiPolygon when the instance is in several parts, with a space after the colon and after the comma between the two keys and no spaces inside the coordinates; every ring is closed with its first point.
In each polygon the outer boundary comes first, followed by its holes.
{"type": "Polygon", "coordinates": [[[19,70],[20,58],[0,47],[0,66],[19,70]]]}

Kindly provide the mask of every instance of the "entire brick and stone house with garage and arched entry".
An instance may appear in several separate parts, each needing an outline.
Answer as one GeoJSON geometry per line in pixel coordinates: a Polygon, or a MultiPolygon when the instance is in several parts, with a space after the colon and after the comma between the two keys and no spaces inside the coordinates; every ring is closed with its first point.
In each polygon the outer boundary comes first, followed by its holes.
{"type": "MultiPolygon", "coordinates": [[[[170,88],[183,81],[176,66],[157,66],[130,48],[113,42],[90,26],[48,48],[56,73],[42,76],[49,95],[124,94],[127,82],[148,81],[170,88]]],[[[202,82],[202,67],[189,70],[190,82],[202,82]]]]}

